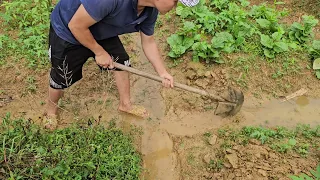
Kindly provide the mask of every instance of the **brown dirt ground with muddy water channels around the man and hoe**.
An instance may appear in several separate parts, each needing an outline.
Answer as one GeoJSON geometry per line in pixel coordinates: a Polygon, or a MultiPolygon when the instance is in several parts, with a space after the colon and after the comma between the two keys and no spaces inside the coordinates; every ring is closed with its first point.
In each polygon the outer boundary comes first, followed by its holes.
{"type": "MultiPolygon", "coordinates": [[[[289,2],[286,5],[290,5],[289,2]]],[[[290,18],[300,17],[293,12],[290,18]]],[[[316,28],[319,37],[320,29],[316,28]]],[[[239,56],[232,55],[229,64],[205,65],[192,63],[190,57],[174,64],[166,57],[168,46],[163,34],[157,33],[157,41],[169,71],[175,81],[215,93],[226,86],[234,86],[245,94],[245,103],[234,117],[214,115],[216,104],[205,97],[178,89],[165,89],[159,83],[135,75],[131,76],[132,101],[145,106],[151,118],[144,120],[117,111],[118,93],[111,72],[100,72],[94,61],[89,60],[83,70],[83,79],[65,91],[61,107],[60,128],[71,123],[88,123],[88,120],[107,124],[116,120],[119,127],[130,131],[137,126],[143,135],[137,147],[143,155],[145,172],[142,179],[288,179],[288,174],[308,173],[319,163],[320,155],[312,151],[308,157],[296,154],[283,155],[257,142],[248,146],[235,145],[227,152],[219,147],[223,139],[217,138],[213,145],[203,141],[206,132],[217,133],[223,127],[247,125],[293,128],[297,124],[320,125],[320,85],[313,71],[306,68],[305,59],[298,74],[274,79],[273,67],[257,62],[260,69],[249,71],[246,86],[236,81],[242,76],[239,69],[230,64],[239,56]],[[282,102],[281,97],[300,89],[303,96],[282,102]],[[208,168],[210,160],[224,159],[221,170],[208,168]]],[[[137,35],[122,36],[133,67],[155,74],[143,55],[137,35]]],[[[30,118],[39,123],[45,110],[48,71],[33,71],[22,64],[8,63],[0,70],[0,116],[10,112],[13,117],[30,118]],[[30,80],[34,79],[34,80],[30,80]]]]}

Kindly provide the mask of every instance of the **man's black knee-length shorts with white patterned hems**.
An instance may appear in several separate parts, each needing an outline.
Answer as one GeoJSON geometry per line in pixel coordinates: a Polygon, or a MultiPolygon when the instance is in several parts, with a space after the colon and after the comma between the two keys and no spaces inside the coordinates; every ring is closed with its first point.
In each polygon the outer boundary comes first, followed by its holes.
{"type": "MultiPolygon", "coordinates": [[[[118,36],[97,41],[117,63],[130,66],[129,56],[118,36]]],[[[50,87],[65,89],[82,78],[82,67],[94,53],[82,46],[61,39],[50,26],[49,58],[51,61],[50,87]]],[[[99,66],[100,67],[100,66],[99,66]]],[[[105,70],[100,67],[101,70],[105,70]]],[[[119,69],[114,69],[120,71],[119,69]]]]}

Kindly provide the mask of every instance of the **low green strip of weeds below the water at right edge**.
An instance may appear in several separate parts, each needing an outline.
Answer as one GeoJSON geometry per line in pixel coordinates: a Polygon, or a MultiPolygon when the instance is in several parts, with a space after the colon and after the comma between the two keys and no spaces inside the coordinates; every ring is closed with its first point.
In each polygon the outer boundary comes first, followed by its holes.
{"type": "Polygon", "coordinates": [[[320,150],[320,126],[310,128],[309,125],[299,125],[294,130],[248,126],[241,130],[221,129],[218,134],[226,139],[222,144],[223,148],[230,148],[233,143],[245,145],[250,139],[257,139],[261,144],[267,144],[280,153],[293,151],[306,156],[311,147],[320,150]]]}

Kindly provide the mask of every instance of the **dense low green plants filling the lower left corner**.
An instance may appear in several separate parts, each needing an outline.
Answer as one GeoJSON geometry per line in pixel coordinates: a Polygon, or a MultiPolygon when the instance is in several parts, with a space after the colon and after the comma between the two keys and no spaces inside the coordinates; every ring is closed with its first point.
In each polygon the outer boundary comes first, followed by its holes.
{"type": "Polygon", "coordinates": [[[113,125],[47,132],[7,114],[0,125],[0,179],[138,179],[141,157],[113,125]]]}

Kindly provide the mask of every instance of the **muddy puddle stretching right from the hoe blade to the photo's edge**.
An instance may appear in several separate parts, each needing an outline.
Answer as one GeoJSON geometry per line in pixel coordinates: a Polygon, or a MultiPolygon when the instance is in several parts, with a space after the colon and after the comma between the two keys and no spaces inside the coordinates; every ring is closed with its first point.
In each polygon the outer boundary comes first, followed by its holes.
{"type": "Polygon", "coordinates": [[[320,125],[320,99],[310,99],[300,96],[281,102],[270,100],[255,105],[253,101],[246,102],[242,108],[245,125],[286,126],[295,127],[298,124],[320,125]]]}

